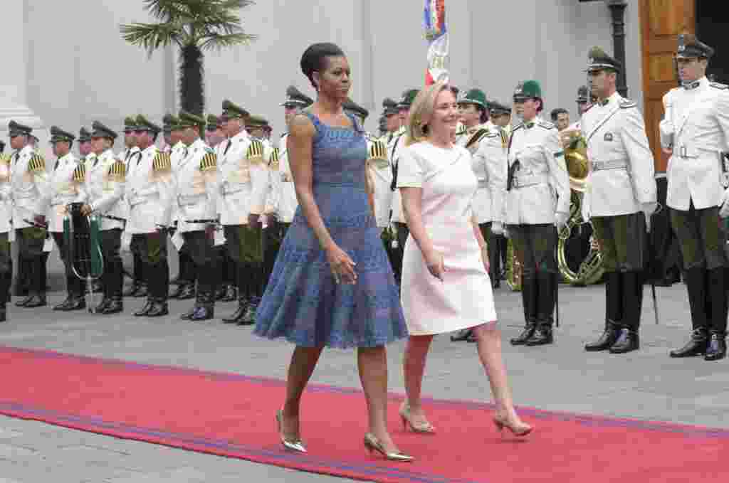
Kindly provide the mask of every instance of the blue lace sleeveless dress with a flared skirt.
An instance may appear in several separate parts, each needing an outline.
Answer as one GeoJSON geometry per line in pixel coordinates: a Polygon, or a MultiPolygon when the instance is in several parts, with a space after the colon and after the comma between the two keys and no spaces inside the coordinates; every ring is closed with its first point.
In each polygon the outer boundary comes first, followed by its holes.
{"type": "Polygon", "coordinates": [[[316,127],[313,196],[332,238],[356,266],[354,285],[335,283],[301,207],[286,232],[256,314],[254,334],[304,347],[375,347],[408,336],[397,286],[365,189],[367,141],[354,129],[316,127]]]}

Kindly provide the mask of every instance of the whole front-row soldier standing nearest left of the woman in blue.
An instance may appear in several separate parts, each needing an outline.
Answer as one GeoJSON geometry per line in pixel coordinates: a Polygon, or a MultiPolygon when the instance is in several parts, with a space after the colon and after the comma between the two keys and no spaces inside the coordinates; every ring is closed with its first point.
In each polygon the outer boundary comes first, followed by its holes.
{"type": "Polygon", "coordinates": [[[263,145],[245,130],[249,112],[227,100],[223,101],[222,109],[222,124],[228,140],[218,160],[220,222],[238,280],[238,310],[223,322],[252,325],[262,285],[260,216],[265,208],[268,173],[263,164],[263,145]]]}

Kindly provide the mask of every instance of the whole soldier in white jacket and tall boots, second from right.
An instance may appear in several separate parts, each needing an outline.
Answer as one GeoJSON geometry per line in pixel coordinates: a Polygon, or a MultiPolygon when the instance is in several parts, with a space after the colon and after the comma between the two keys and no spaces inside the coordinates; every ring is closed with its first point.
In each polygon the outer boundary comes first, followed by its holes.
{"type": "MultiPolygon", "coordinates": [[[[592,220],[605,269],[605,328],[585,350],[628,353],[640,347],[646,227],[656,208],[653,155],[636,103],[617,93],[620,62],[599,47],[588,54],[598,102],[580,119],[590,170],[582,218],[592,220]]],[[[650,226],[650,225],[649,225],[650,226]]]]}

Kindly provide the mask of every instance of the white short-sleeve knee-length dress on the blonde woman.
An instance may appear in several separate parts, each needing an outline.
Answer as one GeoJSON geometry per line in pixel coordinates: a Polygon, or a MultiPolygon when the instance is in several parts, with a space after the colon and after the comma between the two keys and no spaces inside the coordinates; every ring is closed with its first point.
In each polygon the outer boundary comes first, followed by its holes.
{"type": "Polygon", "coordinates": [[[471,164],[464,147],[445,149],[427,141],[400,154],[397,186],[423,189],[423,224],[434,248],[443,253],[446,270],[443,281],[431,275],[418,244],[408,237],[400,300],[410,335],[496,322],[491,280],[471,223],[478,185],[471,164]]]}

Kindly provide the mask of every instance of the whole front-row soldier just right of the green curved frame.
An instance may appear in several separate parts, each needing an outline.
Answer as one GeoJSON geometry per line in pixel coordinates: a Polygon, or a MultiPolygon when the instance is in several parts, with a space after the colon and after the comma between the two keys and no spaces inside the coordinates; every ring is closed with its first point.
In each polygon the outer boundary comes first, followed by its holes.
{"type": "Polygon", "coordinates": [[[101,286],[104,299],[96,307],[96,313],[113,314],[124,310],[122,285],[124,268],[120,248],[122,230],[129,216],[125,201],[127,163],[114,155],[114,140],[117,133],[101,122],[94,121],[91,126],[91,144],[95,154],[92,165],[86,168],[88,203],[81,214],[94,213],[99,217],[99,246],[104,259],[104,273],[101,286]]]}

